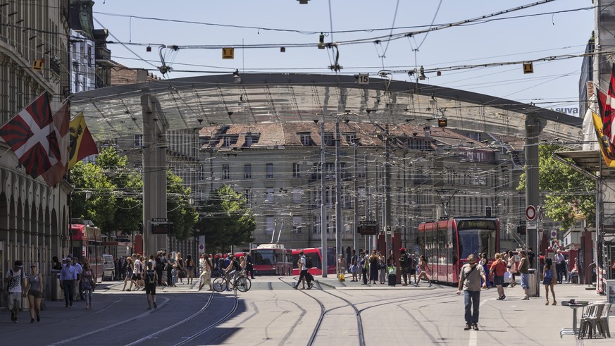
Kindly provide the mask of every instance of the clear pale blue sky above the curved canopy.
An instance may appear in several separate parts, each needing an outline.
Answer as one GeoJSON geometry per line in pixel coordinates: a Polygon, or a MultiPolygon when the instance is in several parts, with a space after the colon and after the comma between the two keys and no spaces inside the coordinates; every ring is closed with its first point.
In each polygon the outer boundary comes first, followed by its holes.
{"type": "Polygon", "coordinates": [[[94,27],[109,30],[108,40],[114,42],[108,44],[111,56],[125,66],[162,76],[162,55],[171,68],[164,78],[235,70],[336,73],[329,68],[335,64],[336,49],[316,47],[323,32],[325,44],[337,42],[337,64],[342,67],[337,73],[343,75],[377,78],[386,73],[387,78],[415,82],[418,73],[409,71],[423,66],[425,84],[566,109],[579,116],[574,109],[578,112],[582,58],[564,57],[585,51],[594,29],[595,5],[591,0],[541,2],[97,0],[94,27]],[[489,20],[445,27],[483,16],[489,20]],[[440,29],[425,32],[430,28],[440,29]],[[165,48],[173,45],[178,49],[165,48]],[[221,47],[234,47],[235,58],[222,59],[221,47]],[[535,61],[531,74],[524,74],[521,64],[510,64],[547,57],[557,59],[535,61]],[[503,65],[481,66],[494,63],[503,65]]]}

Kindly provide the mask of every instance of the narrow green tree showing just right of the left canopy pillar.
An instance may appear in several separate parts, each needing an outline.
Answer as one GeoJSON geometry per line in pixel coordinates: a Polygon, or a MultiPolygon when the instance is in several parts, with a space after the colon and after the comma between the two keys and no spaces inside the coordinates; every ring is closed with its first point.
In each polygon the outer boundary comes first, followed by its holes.
{"type": "Polygon", "coordinates": [[[194,224],[199,221],[197,209],[190,203],[192,192],[184,187],[182,178],[166,171],[167,218],[173,223],[173,235],[178,240],[186,240],[192,235],[194,224]]]}

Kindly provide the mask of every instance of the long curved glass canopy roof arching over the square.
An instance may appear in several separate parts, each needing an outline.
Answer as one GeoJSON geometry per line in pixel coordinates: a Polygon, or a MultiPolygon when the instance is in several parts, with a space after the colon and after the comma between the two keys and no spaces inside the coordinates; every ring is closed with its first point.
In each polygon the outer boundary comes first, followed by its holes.
{"type": "Polygon", "coordinates": [[[541,138],[582,140],[582,118],[530,104],[463,90],[353,76],[208,75],[119,85],[73,94],[73,116],[83,112],[96,141],[142,133],[142,102],[149,102],[166,130],[206,125],[297,123],[315,119],[448,127],[524,137],[528,116],[540,119],[541,138]]]}

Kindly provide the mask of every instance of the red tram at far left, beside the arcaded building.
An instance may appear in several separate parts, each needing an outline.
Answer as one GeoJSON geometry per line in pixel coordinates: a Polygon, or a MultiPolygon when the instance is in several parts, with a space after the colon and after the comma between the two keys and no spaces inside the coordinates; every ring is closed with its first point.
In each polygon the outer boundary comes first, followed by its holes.
{"type": "Polygon", "coordinates": [[[100,228],[92,227],[89,225],[70,225],[70,236],[73,256],[79,259],[82,263],[82,259],[85,258],[89,266],[92,268],[92,276],[99,282],[103,278],[103,259],[104,246],[101,237],[100,228]]]}

